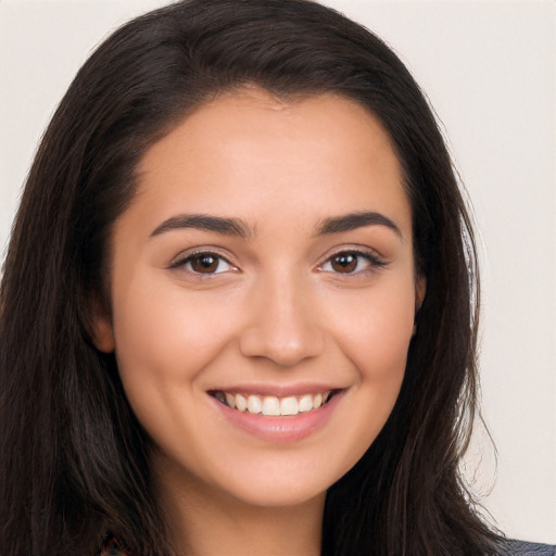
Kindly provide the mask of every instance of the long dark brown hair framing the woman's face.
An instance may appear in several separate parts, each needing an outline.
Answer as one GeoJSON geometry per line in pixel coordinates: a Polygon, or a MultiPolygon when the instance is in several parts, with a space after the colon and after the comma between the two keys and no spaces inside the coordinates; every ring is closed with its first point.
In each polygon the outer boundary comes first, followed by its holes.
{"type": "Polygon", "coordinates": [[[115,359],[90,341],[106,253],[146,150],[197,106],[255,84],[333,92],[382,122],[405,174],[427,295],[396,405],[329,490],[324,556],[488,554],[458,473],[476,414],[473,235],[418,86],[375,35],[305,0],[191,0],[114,33],[62,100],[30,169],[0,291],[0,553],[93,555],[106,528],[170,554],[149,440],[115,359]]]}

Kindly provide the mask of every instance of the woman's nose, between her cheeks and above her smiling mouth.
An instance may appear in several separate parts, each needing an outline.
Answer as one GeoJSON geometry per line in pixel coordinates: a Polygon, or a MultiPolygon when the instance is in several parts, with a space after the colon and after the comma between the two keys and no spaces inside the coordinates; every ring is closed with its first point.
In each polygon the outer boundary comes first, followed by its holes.
{"type": "Polygon", "coordinates": [[[323,353],[325,332],[306,288],[275,279],[257,285],[248,303],[250,318],[240,337],[244,356],[291,367],[323,353]]]}

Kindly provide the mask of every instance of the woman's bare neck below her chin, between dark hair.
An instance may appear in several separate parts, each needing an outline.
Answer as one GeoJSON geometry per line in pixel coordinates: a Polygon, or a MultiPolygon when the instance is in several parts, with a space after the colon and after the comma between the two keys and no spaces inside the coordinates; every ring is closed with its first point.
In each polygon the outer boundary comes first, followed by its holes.
{"type": "Polygon", "coordinates": [[[177,555],[319,556],[325,496],[287,507],[253,506],[216,489],[159,481],[177,555]]]}

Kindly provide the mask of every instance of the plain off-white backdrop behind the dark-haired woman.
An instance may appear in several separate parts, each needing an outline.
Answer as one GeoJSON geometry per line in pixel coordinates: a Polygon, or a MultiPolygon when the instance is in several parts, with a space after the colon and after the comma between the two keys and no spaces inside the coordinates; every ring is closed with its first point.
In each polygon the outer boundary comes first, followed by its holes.
{"type": "MultiPolygon", "coordinates": [[[[0,250],[37,142],[110,30],[162,0],[0,0],[0,250]]],[[[472,200],[483,415],[465,463],[509,536],[556,543],[556,2],[326,3],[386,39],[428,94],[472,200]]]]}

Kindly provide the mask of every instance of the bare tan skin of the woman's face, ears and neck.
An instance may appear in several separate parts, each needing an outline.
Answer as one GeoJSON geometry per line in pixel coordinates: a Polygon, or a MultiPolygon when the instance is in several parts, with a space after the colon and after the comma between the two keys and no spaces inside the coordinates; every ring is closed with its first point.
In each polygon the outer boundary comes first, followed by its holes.
{"type": "Polygon", "coordinates": [[[189,115],[138,170],[96,342],[115,350],[153,440],[174,543],[191,555],[317,555],[326,491],[388,419],[425,294],[389,137],[346,99],[251,88],[189,115]],[[323,233],[363,211],[393,226],[323,233]],[[179,227],[184,214],[233,218],[244,233],[179,227]],[[199,252],[213,253],[208,270],[199,252]],[[211,395],[238,388],[339,394],[308,435],[275,442],[211,395]]]}

